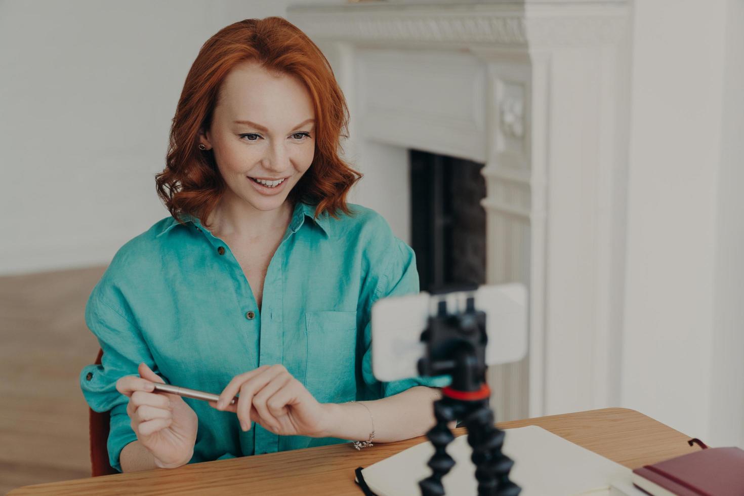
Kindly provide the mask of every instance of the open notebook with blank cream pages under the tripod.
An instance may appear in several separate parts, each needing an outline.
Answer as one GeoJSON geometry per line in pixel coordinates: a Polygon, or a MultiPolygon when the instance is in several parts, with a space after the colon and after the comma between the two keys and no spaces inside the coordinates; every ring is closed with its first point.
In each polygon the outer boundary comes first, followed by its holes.
{"type": "MultiPolygon", "coordinates": [[[[478,495],[466,437],[447,445],[456,462],[442,479],[447,495],[478,495]]],[[[514,460],[510,478],[522,487],[520,496],[609,495],[611,482],[630,477],[629,468],[536,425],[507,429],[503,451],[514,460]]],[[[362,476],[379,496],[420,495],[418,482],[432,473],[426,466],[432,454],[434,446],[422,442],[364,468],[362,476]]]]}

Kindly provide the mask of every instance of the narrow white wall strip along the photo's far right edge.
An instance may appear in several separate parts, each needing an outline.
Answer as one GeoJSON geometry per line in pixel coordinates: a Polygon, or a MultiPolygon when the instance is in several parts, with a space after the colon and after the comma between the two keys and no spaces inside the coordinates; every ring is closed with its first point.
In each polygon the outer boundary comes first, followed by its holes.
{"type": "Polygon", "coordinates": [[[729,0],[725,18],[709,435],[744,448],[744,0],[729,0]]]}

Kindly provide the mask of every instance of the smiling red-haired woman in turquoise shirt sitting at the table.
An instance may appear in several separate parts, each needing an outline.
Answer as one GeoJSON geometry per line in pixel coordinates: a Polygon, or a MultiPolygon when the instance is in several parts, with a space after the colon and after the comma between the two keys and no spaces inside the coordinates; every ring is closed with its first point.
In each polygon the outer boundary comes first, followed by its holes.
{"type": "Polygon", "coordinates": [[[419,283],[411,248],[345,202],[361,177],[336,152],[347,114],[327,60],[284,19],[246,19],[202,46],[156,177],[171,216],[117,252],[86,306],[103,358],[80,384],[111,412],[118,471],[434,425],[432,387],[449,377],[371,371],[372,304],[419,283]]]}

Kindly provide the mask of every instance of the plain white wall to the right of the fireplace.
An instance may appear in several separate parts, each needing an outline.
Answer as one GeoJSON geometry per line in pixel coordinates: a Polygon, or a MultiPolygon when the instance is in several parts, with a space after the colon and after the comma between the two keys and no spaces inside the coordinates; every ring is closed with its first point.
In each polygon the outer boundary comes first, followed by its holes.
{"type": "Polygon", "coordinates": [[[713,445],[744,445],[742,5],[638,0],[632,35],[622,404],[713,445]]]}

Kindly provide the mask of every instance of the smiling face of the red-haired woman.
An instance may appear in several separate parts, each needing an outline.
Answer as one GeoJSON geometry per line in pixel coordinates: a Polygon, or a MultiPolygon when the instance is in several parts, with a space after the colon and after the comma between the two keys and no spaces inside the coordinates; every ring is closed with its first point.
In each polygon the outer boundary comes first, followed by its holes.
{"type": "Polygon", "coordinates": [[[214,150],[226,196],[257,210],[280,207],[315,155],[310,93],[294,77],[244,62],[225,78],[218,100],[199,140],[214,150]]]}

